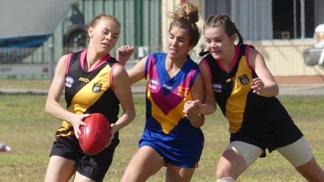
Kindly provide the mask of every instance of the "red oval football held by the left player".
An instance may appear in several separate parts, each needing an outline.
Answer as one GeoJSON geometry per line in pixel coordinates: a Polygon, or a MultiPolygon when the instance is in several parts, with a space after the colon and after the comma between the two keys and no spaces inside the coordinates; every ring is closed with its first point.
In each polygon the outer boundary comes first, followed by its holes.
{"type": "Polygon", "coordinates": [[[79,144],[84,153],[96,155],[107,146],[110,137],[110,124],[101,113],[93,113],[83,122],[87,126],[80,126],[79,144]]]}

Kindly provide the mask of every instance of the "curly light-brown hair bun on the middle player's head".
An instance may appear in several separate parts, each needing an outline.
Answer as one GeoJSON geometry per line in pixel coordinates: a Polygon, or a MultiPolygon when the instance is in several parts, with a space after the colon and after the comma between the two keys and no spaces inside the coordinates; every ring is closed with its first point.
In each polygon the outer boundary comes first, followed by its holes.
{"type": "Polygon", "coordinates": [[[169,17],[173,19],[184,18],[190,23],[196,23],[199,20],[198,8],[191,3],[179,4],[174,12],[169,13],[169,17]]]}

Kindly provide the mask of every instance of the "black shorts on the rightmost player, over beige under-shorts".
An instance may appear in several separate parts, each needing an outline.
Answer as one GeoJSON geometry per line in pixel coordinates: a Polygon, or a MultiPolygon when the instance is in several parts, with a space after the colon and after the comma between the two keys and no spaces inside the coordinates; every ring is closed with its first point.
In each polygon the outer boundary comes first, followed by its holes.
{"type": "Polygon", "coordinates": [[[243,122],[242,128],[236,133],[231,133],[230,142],[242,141],[257,146],[263,150],[260,157],[266,157],[276,148],[285,147],[296,142],[303,136],[301,130],[294,122],[273,122],[260,124],[256,122],[243,122]]]}

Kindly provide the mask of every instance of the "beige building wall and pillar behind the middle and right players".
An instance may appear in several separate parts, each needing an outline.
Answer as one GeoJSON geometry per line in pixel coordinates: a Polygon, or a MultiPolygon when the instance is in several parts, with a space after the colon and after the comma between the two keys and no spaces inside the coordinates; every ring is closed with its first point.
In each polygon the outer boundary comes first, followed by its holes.
{"type": "MultiPolygon", "coordinates": [[[[174,7],[181,0],[162,0],[162,46],[166,50],[167,32],[170,19],[166,12],[173,11],[174,7]]],[[[189,53],[196,62],[200,61],[198,53],[201,51],[201,45],[204,45],[203,37],[203,15],[205,14],[204,0],[186,0],[195,4],[199,9],[200,20],[197,22],[201,29],[201,38],[197,46],[189,53]]],[[[244,37],[243,37],[244,38],[244,37]]],[[[245,44],[252,44],[259,50],[266,61],[267,67],[274,76],[309,76],[324,75],[324,69],[318,66],[309,67],[304,64],[303,50],[313,46],[312,39],[307,40],[269,40],[269,41],[245,41],[245,44]]]]}

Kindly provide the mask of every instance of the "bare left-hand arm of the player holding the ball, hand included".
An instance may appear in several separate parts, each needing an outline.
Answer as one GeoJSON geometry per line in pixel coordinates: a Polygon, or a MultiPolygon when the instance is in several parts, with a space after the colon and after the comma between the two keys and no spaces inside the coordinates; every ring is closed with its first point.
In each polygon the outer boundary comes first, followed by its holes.
{"type": "Polygon", "coordinates": [[[79,134],[81,134],[80,125],[86,125],[82,119],[88,117],[89,114],[75,114],[65,110],[59,104],[59,99],[65,86],[66,63],[67,55],[64,55],[57,63],[54,78],[48,91],[45,111],[55,118],[71,122],[75,136],[79,138],[79,134]]]}

